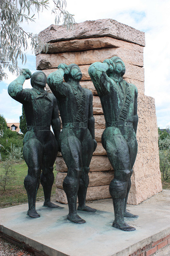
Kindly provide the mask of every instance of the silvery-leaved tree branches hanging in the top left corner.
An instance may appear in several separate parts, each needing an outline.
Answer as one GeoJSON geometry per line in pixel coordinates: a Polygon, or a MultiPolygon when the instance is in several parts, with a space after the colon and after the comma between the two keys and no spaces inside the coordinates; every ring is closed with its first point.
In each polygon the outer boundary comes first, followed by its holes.
{"type": "Polygon", "coordinates": [[[28,39],[31,40],[32,51],[47,52],[48,45],[43,44],[37,34],[24,31],[21,25],[23,22],[34,22],[32,10],[40,13],[43,8],[49,8],[49,1],[54,3],[52,13],[55,14],[55,24],[59,24],[63,17],[67,28],[73,25],[73,15],[65,11],[65,0],[0,0],[0,80],[7,77],[4,68],[19,74],[18,58],[22,64],[26,62],[24,51],[28,49],[28,39]]]}

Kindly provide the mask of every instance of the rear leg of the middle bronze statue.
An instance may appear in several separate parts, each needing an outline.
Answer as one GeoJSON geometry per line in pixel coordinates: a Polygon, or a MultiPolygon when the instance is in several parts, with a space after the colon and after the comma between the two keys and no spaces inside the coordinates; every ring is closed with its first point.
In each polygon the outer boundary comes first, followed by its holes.
{"type": "Polygon", "coordinates": [[[89,185],[89,175],[88,175],[90,170],[89,165],[91,162],[91,158],[93,156],[93,139],[91,137],[89,130],[87,130],[87,133],[84,136],[81,148],[82,148],[83,168],[80,176],[80,185],[79,185],[79,190],[77,194],[78,200],[79,200],[79,205],[77,210],[85,211],[85,212],[96,212],[96,209],[85,205],[87,188],[89,185]]]}

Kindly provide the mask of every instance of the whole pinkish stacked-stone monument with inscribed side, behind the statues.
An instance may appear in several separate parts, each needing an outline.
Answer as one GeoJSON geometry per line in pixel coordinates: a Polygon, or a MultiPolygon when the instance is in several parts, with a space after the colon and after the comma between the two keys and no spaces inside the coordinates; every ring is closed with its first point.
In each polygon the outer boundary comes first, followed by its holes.
{"type": "MultiPolygon", "coordinates": [[[[155,104],[153,98],[144,95],[144,33],[115,20],[105,19],[75,24],[75,29],[69,31],[63,26],[51,25],[40,32],[39,36],[43,42],[49,43],[49,50],[37,55],[37,69],[48,75],[57,70],[60,63],[75,63],[83,74],[81,86],[93,92],[97,149],[90,164],[87,200],[111,197],[109,183],[114,177],[114,171],[101,144],[105,118],[88,68],[93,62],[103,62],[113,56],[122,58],[126,66],[125,80],[138,88],[138,155],[134,164],[128,203],[138,204],[162,191],[155,104]]],[[[57,156],[56,163],[56,200],[67,203],[62,186],[67,166],[61,155],[57,156]]]]}

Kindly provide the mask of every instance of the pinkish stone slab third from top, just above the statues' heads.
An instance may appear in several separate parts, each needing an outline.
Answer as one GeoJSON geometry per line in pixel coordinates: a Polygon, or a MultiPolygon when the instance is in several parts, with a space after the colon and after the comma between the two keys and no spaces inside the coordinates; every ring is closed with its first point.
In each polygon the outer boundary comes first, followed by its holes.
{"type": "Polygon", "coordinates": [[[75,63],[78,66],[89,65],[93,62],[103,62],[113,56],[119,56],[124,62],[143,66],[143,54],[127,48],[104,48],[99,50],[89,50],[84,52],[63,52],[57,54],[38,54],[36,57],[37,70],[57,68],[60,63],[69,65],[75,63]]]}

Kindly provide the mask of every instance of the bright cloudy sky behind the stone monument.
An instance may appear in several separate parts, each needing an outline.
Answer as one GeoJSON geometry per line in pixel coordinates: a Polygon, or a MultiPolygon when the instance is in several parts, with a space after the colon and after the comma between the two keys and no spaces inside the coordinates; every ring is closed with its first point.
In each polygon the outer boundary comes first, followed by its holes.
{"type": "MultiPolygon", "coordinates": [[[[111,18],[145,32],[145,95],[155,99],[158,127],[170,126],[170,0],[67,0],[66,10],[75,15],[77,23],[111,18]]],[[[36,23],[23,24],[26,32],[38,34],[55,24],[50,9],[36,17],[36,23]]],[[[29,68],[33,73],[36,57],[31,51],[26,55],[27,62],[20,67],[29,68]]],[[[0,114],[7,122],[19,122],[22,105],[7,92],[16,75],[7,73],[8,80],[0,82],[0,114]]],[[[24,83],[24,88],[28,87],[30,80],[24,83]]]]}

